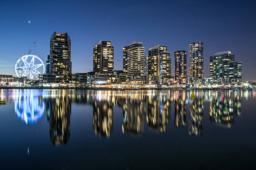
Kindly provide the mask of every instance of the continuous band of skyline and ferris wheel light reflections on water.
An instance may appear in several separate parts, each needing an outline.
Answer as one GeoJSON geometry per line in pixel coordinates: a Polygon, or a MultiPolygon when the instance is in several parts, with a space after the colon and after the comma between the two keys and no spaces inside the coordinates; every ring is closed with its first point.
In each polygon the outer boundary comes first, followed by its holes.
{"type": "MultiPolygon", "coordinates": [[[[248,92],[126,90],[1,90],[1,100],[15,102],[15,112],[26,124],[36,123],[44,114],[50,120],[50,136],[54,145],[67,143],[70,136],[71,103],[90,104],[93,107],[95,134],[110,138],[113,130],[113,107],[123,107],[123,133],[141,134],[144,120],[148,128],[165,133],[170,125],[171,103],[174,102],[174,126],[186,127],[189,135],[203,134],[203,102],[210,102],[210,121],[230,128],[241,116],[241,100],[248,92]],[[5,96],[8,97],[5,97],[5,96]],[[45,109],[46,108],[46,109],[45,109]],[[188,117],[188,122],[187,122],[188,117]]],[[[249,92],[255,97],[255,92],[249,92]]]]}

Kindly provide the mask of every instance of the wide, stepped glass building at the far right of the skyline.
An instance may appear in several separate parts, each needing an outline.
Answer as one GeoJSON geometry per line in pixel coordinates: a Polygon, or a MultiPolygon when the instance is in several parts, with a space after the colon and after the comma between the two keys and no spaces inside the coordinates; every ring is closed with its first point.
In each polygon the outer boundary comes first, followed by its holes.
{"type": "Polygon", "coordinates": [[[235,62],[235,55],[230,51],[218,52],[210,56],[210,76],[221,84],[238,84],[242,82],[242,63],[235,62]]]}

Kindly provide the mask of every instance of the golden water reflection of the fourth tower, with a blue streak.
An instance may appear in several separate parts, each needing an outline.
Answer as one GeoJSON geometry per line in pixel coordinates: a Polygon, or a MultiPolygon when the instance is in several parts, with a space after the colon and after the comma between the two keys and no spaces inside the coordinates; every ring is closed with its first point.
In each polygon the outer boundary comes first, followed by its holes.
{"type": "Polygon", "coordinates": [[[147,122],[151,130],[158,133],[166,132],[166,126],[169,125],[171,117],[171,102],[168,95],[158,93],[149,96],[147,122]]]}

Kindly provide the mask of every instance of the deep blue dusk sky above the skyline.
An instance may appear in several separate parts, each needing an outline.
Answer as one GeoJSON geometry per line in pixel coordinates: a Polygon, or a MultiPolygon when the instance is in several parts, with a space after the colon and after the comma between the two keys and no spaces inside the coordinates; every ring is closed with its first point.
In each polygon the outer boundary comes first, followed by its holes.
{"type": "MultiPolygon", "coordinates": [[[[243,62],[243,80],[256,80],[256,2],[247,1],[0,1],[0,74],[13,74],[14,63],[36,41],[44,61],[50,37],[67,32],[71,38],[72,73],[92,71],[92,49],[100,39],[112,40],[114,69],[122,70],[122,47],[134,40],[148,48],[167,45],[187,50],[204,42],[204,71],[215,52],[231,51],[243,62]],[[31,23],[28,23],[31,21],[31,23]]],[[[188,62],[189,65],[189,62],[188,62]]]]}

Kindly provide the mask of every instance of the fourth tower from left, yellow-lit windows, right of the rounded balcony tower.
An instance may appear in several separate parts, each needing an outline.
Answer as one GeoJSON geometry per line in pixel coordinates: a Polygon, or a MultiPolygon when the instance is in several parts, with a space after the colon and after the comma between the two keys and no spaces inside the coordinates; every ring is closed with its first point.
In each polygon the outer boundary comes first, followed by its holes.
{"type": "Polygon", "coordinates": [[[148,50],[148,80],[153,83],[172,76],[172,58],[167,46],[156,45],[148,50]]]}

